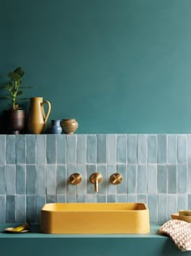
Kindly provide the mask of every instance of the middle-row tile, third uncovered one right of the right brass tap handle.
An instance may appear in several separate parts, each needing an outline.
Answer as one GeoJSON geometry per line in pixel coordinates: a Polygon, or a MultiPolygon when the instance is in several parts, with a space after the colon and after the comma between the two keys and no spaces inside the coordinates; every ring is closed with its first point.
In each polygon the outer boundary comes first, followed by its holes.
{"type": "Polygon", "coordinates": [[[147,166],[147,182],[148,182],[148,194],[157,193],[157,165],[148,164],[147,166]]]}

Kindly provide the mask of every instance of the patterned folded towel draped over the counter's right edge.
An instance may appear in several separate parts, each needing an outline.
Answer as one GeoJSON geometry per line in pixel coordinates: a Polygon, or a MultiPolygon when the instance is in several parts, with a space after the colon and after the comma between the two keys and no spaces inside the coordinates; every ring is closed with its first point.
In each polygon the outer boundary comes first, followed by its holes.
{"type": "Polygon", "coordinates": [[[191,250],[191,224],[183,220],[168,220],[159,229],[160,233],[172,238],[176,246],[182,250],[191,250]]]}

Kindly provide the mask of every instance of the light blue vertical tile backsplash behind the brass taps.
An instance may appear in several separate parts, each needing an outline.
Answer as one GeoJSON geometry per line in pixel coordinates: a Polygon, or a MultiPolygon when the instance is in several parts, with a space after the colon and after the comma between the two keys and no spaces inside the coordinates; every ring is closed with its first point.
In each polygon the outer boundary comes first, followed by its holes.
{"type": "Polygon", "coordinates": [[[39,222],[53,202],[142,202],[162,224],[191,208],[191,134],[1,134],[0,222],[39,222]],[[98,193],[95,172],[103,176],[98,193]],[[114,186],[117,172],[123,181],[114,186]],[[78,186],[72,173],[83,177],[78,186]]]}

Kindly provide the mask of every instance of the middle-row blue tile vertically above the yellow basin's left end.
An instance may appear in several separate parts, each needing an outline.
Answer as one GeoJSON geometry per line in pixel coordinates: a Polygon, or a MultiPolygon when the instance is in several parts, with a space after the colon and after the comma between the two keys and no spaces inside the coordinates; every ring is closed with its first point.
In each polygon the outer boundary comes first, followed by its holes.
{"type": "Polygon", "coordinates": [[[36,194],[46,194],[46,167],[45,164],[36,165],[36,194]]]}

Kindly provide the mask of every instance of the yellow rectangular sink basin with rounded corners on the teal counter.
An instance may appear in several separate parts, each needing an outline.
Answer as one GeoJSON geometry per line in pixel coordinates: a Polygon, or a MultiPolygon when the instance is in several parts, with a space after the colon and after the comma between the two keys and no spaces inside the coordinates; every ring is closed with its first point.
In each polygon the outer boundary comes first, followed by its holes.
{"type": "Polygon", "coordinates": [[[41,209],[41,233],[149,233],[145,203],[47,203],[41,209]]]}

